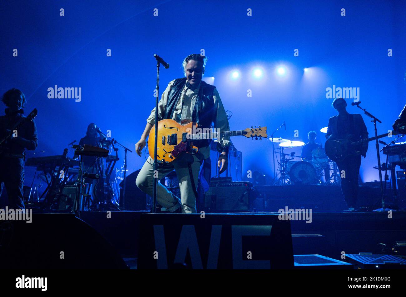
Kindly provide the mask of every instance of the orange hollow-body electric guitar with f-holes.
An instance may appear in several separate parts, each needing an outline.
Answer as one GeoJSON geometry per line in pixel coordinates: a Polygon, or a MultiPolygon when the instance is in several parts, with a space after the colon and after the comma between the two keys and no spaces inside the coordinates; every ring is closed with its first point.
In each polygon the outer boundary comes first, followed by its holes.
{"type": "MultiPolygon", "coordinates": [[[[212,129],[199,128],[196,122],[186,125],[179,125],[172,119],[164,119],[158,122],[158,144],[157,160],[158,163],[172,162],[181,153],[197,153],[199,148],[193,145],[194,141],[209,140],[213,138],[221,139],[229,136],[245,136],[252,140],[268,138],[266,127],[251,127],[239,131],[212,132],[212,129]],[[202,133],[204,132],[204,133],[202,133]]],[[[154,157],[155,144],[155,125],[149,132],[148,152],[151,158],[154,157]]]]}

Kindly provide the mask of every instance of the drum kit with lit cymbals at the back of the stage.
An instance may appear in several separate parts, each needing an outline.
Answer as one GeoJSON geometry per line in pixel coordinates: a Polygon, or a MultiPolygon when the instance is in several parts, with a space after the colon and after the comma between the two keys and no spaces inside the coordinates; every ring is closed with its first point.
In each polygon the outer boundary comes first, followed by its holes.
{"type": "MultiPolygon", "coordinates": [[[[326,133],[327,127],[320,129],[326,133]]],[[[274,154],[278,168],[273,185],[331,185],[339,184],[340,175],[337,164],[330,160],[324,148],[315,148],[311,151],[311,159],[296,155],[296,153],[285,153],[285,149],[304,146],[304,142],[289,140],[279,137],[269,138],[273,142],[274,154]],[[275,147],[278,145],[278,147],[275,147]],[[299,158],[295,159],[295,158],[299,158]],[[328,174],[328,176],[326,176],[328,174]],[[324,182],[322,181],[324,176],[324,182]],[[276,179],[277,178],[277,179],[276,179]]]]}

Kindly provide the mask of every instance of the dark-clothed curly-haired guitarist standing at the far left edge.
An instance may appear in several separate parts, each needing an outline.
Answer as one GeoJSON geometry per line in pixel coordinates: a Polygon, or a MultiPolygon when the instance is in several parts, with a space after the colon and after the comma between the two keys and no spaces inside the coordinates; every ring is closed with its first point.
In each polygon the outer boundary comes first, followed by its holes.
{"type": "MultiPolygon", "coordinates": [[[[19,89],[10,89],[3,94],[1,101],[6,105],[5,115],[0,117],[0,135],[13,132],[13,127],[24,119],[26,98],[19,89]]],[[[0,148],[0,184],[9,197],[9,208],[25,209],[23,199],[25,149],[35,150],[38,145],[37,126],[27,121],[17,129],[16,137],[11,137],[0,148]]],[[[0,193],[1,195],[1,193],[0,193]]]]}

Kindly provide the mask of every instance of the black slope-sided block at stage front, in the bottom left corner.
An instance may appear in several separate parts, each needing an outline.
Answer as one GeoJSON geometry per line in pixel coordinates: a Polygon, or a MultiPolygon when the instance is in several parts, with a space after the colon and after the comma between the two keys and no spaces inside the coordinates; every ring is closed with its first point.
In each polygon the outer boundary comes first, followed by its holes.
{"type": "Polygon", "coordinates": [[[31,223],[1,220],[0,263],[13,269],[127,268],[102,235],[65,213],[35,213],[31,223]]]}

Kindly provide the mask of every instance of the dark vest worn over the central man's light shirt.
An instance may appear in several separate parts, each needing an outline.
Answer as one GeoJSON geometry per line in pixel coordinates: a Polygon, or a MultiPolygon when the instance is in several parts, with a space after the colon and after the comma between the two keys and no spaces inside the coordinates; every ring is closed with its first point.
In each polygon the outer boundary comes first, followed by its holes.
{"type": "MultiPolygon", "coordinates": [[[[175,112],[175,108],[177,103],[181,98],[182,90],[184,89],[186,84],[186,77],[184,78],[177,78],[173,83],[171,91],[168,95],[168,100],[166,102],[166,112],[165,112],[165,119],[172,119],[173,113],[175,112]]],[[[216,118],[217,108],[214,105],[214,98],[213,92],[216,87],[201,81],[199,93],[197,95],[196,104],[194,106],[194,110],[192,111],[192,121],[197,122],[199,127],[202,128],[210,128],[212,122],[216,118]]],[[[206,140],[194,142],[196,146],[206,146],[209,142],[206,140]]]]}

